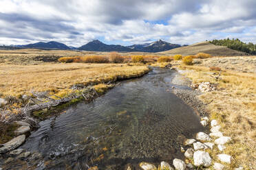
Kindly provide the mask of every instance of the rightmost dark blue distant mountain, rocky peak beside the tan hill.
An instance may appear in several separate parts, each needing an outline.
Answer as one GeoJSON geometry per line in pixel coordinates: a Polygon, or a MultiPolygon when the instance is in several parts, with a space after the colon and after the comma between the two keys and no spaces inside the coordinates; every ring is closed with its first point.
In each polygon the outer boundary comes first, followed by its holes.
{"type": "Polygon", "coordinates": [[[169,49],[175,49],[178,47],[181,47],[181,45],[177,44],[171,44],[169,42],[165,42],[163,40],[157,40],[152,43],[146,43],[142,45],[131,45],[127,46],[131,49],[136,49],[138,51],[144,51],[144,52],[151,52],[151,53],[156,53],[160,51],[167,51],[169,49]]]}

